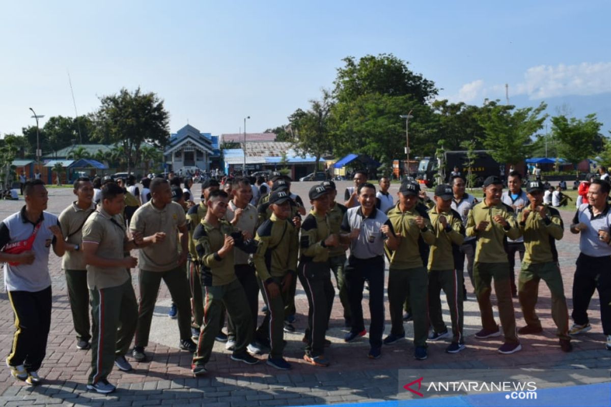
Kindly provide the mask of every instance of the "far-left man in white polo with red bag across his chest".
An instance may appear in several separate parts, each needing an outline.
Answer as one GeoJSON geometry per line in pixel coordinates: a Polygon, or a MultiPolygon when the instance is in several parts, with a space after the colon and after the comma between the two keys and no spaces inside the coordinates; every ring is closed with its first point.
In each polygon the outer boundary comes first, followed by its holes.
{"type": "Polygon", "coordinates": [[[4,284],[16,328],[6,364],[13,377],[36,385],[51,327],[49,248],[53,245],[61,257],[65,244],[57,217],[45,211],[45,184],[27,181],[23,193],[26,206],[0,223],[0,262],[5,262],[4,284]]]}

